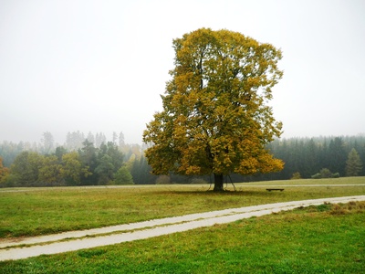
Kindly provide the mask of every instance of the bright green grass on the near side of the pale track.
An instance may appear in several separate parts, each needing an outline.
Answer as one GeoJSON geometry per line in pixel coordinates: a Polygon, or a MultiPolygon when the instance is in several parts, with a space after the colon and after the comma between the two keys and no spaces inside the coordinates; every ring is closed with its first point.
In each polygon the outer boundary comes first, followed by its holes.
{"type": "Polygon", "coordinates": [[[120,245],[0,262],[1,273],[363,273],[365,203],[318,205],[120,245]]]}

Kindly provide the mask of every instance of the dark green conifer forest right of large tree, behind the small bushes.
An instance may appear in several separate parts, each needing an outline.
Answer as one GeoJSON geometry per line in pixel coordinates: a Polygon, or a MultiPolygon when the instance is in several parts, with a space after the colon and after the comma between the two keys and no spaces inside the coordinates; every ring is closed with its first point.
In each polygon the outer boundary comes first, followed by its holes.
{"type": "Polygon", "coordinates": [[[290,179],[294,173],[300,173],[302,178],[311,178],[323,168],[327,168],[332,174],[338,173],[341,177],[365,175],[362,168],[365,161],[364,135],[283,139],[271,142],[269,148],[277,158],[286,163],[282,172],[267,176],[270,180],[290,179]],[[347,169],[348,160],[354,154],[359,156],[357,164],[361,168],[357,169],[358,172],[347,169]]]}

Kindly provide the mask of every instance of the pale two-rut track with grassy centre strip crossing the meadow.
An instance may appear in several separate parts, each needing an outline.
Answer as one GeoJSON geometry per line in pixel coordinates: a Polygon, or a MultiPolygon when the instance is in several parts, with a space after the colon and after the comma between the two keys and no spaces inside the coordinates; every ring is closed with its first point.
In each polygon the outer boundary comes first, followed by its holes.
{"type": "Polygon", "coordinates": [[[253,205],[199,214],[155,219],[114,227],[72,231],[41,237],[28,237],[21,240],[0,240],[0,261],[120,244],[137,239],[183,232],[198,227],[210,227],[214,226],[214,224],[231,223],[236,220],[252,216],[264,216],[274,212],[291,210],[299,206],[322,205],[324,203],[339,204],[348,203],[350,201],[365,201],[365,195],[253,205]],[[108,233],[113,234],[102,236],[102,234],[108,233]],[[59,242],[60,240],[64,241],[59,242]],[[21,245],[31,246],[22,248],[19,247],[21,245]]]}

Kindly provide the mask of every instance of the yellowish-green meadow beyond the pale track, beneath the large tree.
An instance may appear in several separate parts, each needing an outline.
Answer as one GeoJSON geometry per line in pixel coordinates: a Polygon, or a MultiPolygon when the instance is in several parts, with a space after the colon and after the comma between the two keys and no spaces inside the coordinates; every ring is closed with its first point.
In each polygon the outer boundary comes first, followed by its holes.
{"type": "MultiPolygon", "coordinates": [[[[358,178],[335,180],[338,184],[360,182],[358,178]]],[[[223,194],[207,192],[208,185],[30,188],[15,192],[1,189],[0,238],[106,227],[246,205],[365,195],[365,186],[360,185],[291,186],[292,181],[276,184],[287,184],[285,191],[268,193],[265,186],[248,184],[236,184],[238,191],[223,194]]]]}

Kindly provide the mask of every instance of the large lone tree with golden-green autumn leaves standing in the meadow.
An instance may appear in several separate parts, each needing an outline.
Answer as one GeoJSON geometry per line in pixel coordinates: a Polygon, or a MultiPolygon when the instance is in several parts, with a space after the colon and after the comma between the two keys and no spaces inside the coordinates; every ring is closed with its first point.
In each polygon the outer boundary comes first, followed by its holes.
{"type": "Polygon", "coordinates": [[[154,174],[224,174],[280,171],[266,143],[279,137],[267,102],[283,72],[281,51],[228,30],[201,28],[173,40],[175,68],[162,96],[163,111],[143,141],[154,174]]]}

